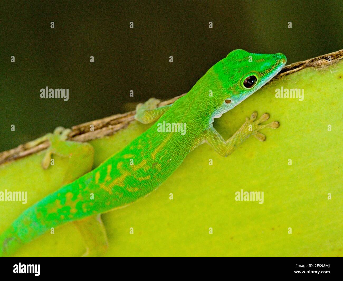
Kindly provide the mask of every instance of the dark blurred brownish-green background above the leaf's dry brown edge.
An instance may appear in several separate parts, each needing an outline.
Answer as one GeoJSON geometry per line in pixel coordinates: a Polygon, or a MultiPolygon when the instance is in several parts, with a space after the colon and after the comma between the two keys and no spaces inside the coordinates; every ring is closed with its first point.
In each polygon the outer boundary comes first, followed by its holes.
{"type": "Polygon", "coordinates": [[[1,2],[0,151],[185,93],[233,49],[287,63],[342,49],[342,1],[121,2],[1,2]],[[40,98],[46,86],[69,101],[40,98]]]}

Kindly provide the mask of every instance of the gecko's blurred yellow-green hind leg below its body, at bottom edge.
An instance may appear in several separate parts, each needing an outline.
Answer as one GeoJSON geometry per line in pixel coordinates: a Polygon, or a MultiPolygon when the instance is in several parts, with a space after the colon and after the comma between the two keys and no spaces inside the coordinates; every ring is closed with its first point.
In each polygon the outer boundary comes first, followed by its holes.
{"type": "Polygon", "coordinates": [[[80,231],[86,244],[86,252],[82,257],[98,257],[106,253],[108,240],[100,214],[74,221],[74,224],[80,231]]]}

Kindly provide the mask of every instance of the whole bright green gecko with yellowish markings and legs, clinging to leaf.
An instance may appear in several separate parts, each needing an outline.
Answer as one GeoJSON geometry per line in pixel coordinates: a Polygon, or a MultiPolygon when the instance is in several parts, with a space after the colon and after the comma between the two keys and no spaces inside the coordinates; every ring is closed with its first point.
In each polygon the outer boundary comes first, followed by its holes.
{"type": "Polygon", "coordinates": [[[68,129],[59,127],[53,134],[28,143],[30,147],[49,140],[44,169],[53,154],[69,157],[69,168],[59,190],[26,209],[2,233],[0,256],[12,255],[22,244],[67,222],[74,222],[81,232],[86,244],[84,256],[104,254],[108,241],[100,214],[125,207],[155,190],[200,144],[206,142],[226,157],[251,135],[264,141],[259,130],[279,127],[277,121],[260,125],[269,114],[257,119],[254,112],[225,141],[214,129],[213,120],[260,89],[285,63],[281,53],[230,52],[173,104],[157,107],[159,100],[155,98],[139,104],[135,119],[155,124],[92,171],[92,145],[67,141],[68,129]]]}

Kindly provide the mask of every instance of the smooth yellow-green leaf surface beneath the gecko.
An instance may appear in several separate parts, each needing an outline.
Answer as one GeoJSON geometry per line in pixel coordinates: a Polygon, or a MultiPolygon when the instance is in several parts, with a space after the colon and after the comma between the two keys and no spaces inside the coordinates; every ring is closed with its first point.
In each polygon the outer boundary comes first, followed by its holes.
{"type": "MultiPolygon", "coordinates": [[[[268,121],[281,126],[264,129],[265,142],[250,137],[226,158],[203,144],[148,197],[103,214],[110,244],[106,256],[342,256],[342,77],[343,61],[304,68],[268,83],[216,119],[214,126],[225,139],[253,111],[268,112],[268,121]],[[304,100],[275,98],[282,86],[304,89],[304,100]],[[263,191],[263,204],[236,201],[241,189],[263,191]]],[[[132,122],[113,136],[91,141],[94,167],[147,128],[132,122]]],[[[0,202],[0,232],[61,185],[67,160],[56,156],[55,166],[43,171],[43,155],[0,165],[1,191],[28,192],[27,204],[0,202]]],[[[15,256],[80,256],[84,250],[69,223],[24,245],[15,256]]]]}

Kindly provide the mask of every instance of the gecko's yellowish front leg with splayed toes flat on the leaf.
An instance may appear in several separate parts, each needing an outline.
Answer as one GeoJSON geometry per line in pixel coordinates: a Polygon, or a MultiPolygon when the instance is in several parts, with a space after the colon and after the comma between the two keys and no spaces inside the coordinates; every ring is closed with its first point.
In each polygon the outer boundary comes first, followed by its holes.
{"type": "Polygon", "coordinates": [[[250,135],[253,135],[260,141],[265,141],[265,135],[259,130],[264,128],[276,129],[280,126],[279,122],[273,121],[269,124],[259,125],[269,119],[269,114],[264,113],[258,120],[257,112],[251,114],[250,119],[247,117],[244,124],[235,132],[227,141],[214,129],[211,128],[204,131],[205,141],[220,155],[227,157],[239,147],[250,135]]]}

